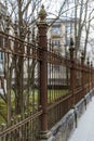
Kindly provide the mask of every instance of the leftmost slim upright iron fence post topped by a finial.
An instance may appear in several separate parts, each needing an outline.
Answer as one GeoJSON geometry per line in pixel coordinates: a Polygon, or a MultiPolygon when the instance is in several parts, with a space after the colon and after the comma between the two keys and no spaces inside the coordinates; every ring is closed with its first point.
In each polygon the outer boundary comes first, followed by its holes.
{"type": "MultiPolygon", "coordinates": [[[[10,17],[6,16],[6,28],[5,28],[5,34],[8,34],[8,36],[5,37],[5,49],[8,49],[8,51],[10,50],[10,39],[9,39],[9,33],[10,33],[10,17]]],[[[4,63],[6,63],[6,66],[4,68],[4,79],[6,81],[6,98],[8,98],[8,103],[6,103],[6,108],[8,108],[8,126],[10,126],[11,124],[11,93],[10,93],[10,89],[11,89],[11,81],[10,81],[10,69],[9,69],[9,59],[10,59],[10,54],[5,54],[4,53],[4,63]]]]}

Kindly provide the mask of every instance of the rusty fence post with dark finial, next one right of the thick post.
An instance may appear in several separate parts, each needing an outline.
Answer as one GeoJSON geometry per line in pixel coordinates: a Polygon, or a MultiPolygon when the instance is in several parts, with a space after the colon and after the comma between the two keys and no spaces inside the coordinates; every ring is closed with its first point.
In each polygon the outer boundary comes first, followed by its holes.
{"type": "Polygon", "coordinates": [[[70,62],[71,62],[71,68],[70,68],[70,90],[72,92],[72,105],[75,105],[76,98],[75,98],[75,60],[73,60],[73,40],[70,38],[70,62]]]}

